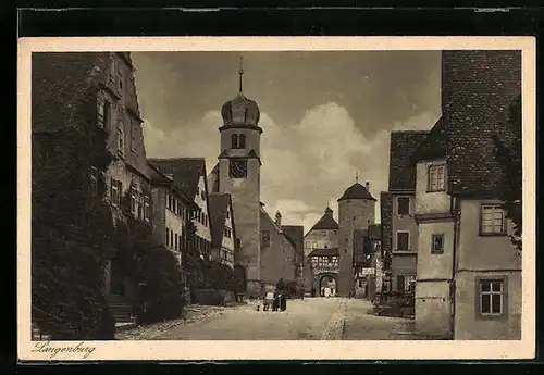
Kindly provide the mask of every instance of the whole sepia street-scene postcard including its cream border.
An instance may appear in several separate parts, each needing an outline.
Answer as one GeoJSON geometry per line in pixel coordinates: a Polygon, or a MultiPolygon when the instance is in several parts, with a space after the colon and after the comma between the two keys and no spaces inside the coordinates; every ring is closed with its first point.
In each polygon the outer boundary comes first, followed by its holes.
{"type": "Polygon", "coordinates": [[[534,340],[534,43],[418,40],[26,48],[29,355],[534,340]]]}

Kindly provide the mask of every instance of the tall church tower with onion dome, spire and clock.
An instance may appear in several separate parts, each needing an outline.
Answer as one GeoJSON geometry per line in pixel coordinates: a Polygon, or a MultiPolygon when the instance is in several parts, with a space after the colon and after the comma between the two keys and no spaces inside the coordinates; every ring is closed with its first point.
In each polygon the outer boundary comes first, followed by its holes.
{"type": "Polygon", "coordinates": [[[260,249],[260,111],[257,103],[244,95],[239,68],[239,91],[221,109],[223,125],[218,167],[218,189],[228,192],[233,201],[239,254],[236,260],[246,270],[247,292],[261,289],[260,249]]]}

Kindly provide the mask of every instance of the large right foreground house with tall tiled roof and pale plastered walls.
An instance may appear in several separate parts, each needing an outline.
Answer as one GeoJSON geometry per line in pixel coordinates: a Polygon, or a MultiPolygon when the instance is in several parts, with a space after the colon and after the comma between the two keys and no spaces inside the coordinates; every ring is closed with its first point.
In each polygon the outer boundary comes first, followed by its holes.
{"type": "Polygon", "coordinates": [[[509,136],[520,86],[519,51],[443,52],[443,115],[412,158],[416,324],[423,334],[521,337],[521,263],[496,199],[502,171],[493,154],[493,136],[509,136]]]}

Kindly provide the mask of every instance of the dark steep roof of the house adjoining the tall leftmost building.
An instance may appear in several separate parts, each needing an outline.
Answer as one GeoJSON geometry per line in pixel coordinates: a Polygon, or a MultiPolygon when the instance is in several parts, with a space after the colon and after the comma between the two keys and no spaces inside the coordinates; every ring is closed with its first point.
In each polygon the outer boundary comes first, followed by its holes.
{"type": "Polygon", "coordinates": [[[191,199],[198,192],[200,176],[206,179],[203,158],[148,159],[148,162],[165,175],[173,175],[174,184],[191,199]]]}

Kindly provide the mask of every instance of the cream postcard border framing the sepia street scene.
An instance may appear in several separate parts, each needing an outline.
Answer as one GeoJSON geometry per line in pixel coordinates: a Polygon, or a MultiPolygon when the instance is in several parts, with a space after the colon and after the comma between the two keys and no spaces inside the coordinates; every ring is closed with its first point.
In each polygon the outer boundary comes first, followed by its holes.
{"type": "Polygon", "coordinates": [[[21,361],[530,359],[535,354],[536,55],[533,37],[21,38],[17,68],[17,351],[21,361]],[[522,335],[518,341],[32,341],[30,54],[60,51],[522,50],[522,335]],[[58,351],[39,350],[46,345],[58,351]],[[73,349],[73,348],[78,349],[73,349]],[[64,348],[64,350],[61,350],[64,348]],[[70,351],[72,348],[72,351],[70,351]],[[86,350],[86,351],[85,351],[86,350]],[[87,354],[85,354],[87,353],[87,354]]]}

